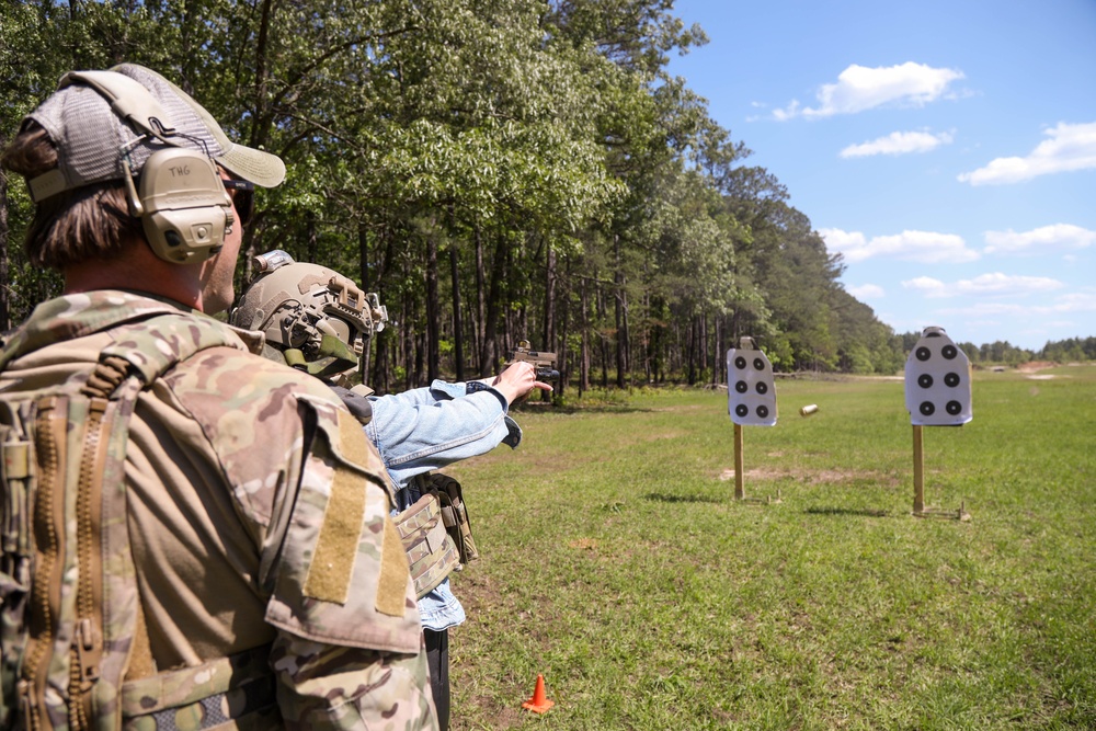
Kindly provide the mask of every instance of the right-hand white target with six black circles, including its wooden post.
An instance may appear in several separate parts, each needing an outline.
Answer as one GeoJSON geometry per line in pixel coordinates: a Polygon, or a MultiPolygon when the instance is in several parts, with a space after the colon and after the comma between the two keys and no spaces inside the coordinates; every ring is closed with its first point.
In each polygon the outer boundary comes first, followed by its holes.
{"type": "Polygon", "coordinates": [[[944,332],[925,328],[905,365],[905,406],[913,424],[913,515],[969,521],[958,510],[925,506],[925,426],[961,426],[971,420],[970,361],[944,332]]]}

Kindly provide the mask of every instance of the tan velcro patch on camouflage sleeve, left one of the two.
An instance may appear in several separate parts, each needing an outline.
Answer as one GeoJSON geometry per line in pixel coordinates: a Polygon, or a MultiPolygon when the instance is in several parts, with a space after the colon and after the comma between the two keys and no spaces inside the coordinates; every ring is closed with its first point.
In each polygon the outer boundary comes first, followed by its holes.
{"type": "Polygon", "coordinates": [[[305,579],[305,596],[346,604],[365,518],[365,489],[366,480],[359,472],[335,465],[331,496],[305,579]]]}

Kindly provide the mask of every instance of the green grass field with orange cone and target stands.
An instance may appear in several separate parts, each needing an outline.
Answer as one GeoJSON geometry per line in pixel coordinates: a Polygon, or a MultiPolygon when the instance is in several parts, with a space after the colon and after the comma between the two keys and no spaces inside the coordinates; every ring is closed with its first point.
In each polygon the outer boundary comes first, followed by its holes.
{"type": "Polygon", "coordinates": [[[1096,367],[1039,376],[925,429],[926,504],[969,522],[911,515],[901,380],[778,381],[747,501],[726,391],[516,412],[447,470],[482,553],[450,728],[1096,729],[1096,367]]]}

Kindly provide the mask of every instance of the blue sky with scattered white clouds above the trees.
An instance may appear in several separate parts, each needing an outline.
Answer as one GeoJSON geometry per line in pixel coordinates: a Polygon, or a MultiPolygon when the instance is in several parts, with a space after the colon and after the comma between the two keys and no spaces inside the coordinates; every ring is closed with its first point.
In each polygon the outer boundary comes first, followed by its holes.
{"type": "Polygon", "coordinates": [[[1096,0],[678,0],[674,57],[897,332],[1096,335],[1096,0]]]}

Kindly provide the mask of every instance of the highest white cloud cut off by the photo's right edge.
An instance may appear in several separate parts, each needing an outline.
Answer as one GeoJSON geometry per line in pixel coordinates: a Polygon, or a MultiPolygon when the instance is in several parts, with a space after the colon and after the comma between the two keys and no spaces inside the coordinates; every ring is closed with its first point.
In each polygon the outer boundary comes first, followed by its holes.
{"type": "Polygon", "coordinates": [[[1019,183],[1039,175],[1096,168],[1096,122],[1059,123],[1025,158],[997,158],[973,172],[959,175],[971,185],[1019,183]]]}

